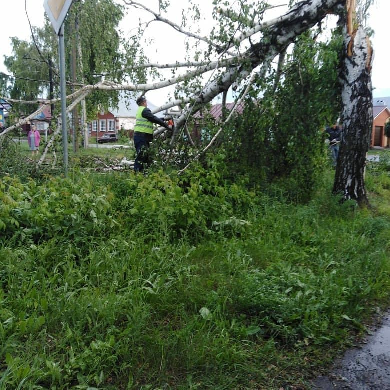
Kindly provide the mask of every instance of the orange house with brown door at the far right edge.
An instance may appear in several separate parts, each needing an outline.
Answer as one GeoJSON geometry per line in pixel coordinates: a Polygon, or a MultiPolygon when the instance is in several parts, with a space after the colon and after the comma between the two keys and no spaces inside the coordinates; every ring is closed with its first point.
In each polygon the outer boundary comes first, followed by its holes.
{"type": "Polygon", "coordinates": [[[373,99],[373,125],[371,147],[388,147],[390,139],[384,134],[384,126],[390,120],[390,97],[373,99]]]}

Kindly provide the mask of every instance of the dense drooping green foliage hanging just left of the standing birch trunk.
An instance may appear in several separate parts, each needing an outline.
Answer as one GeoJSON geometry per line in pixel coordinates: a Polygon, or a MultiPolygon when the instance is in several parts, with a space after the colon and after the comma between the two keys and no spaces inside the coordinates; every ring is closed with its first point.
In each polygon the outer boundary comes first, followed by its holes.
{"type": "Polygon", "coordinates": [[[313,33],[297,39],[284,66],[283,82],[258,80],[226,138],[231,169],[248,172],[253,181],[279,182],[286,196],[307,201],[325,164],[321,128],[340,112],[338,53],[341,39],[316,42],[313,33]]]}

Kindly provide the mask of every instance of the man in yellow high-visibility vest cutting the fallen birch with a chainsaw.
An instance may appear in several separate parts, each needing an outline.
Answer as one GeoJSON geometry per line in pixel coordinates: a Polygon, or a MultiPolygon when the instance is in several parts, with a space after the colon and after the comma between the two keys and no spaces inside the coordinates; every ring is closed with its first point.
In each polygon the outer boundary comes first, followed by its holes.
{"type": "Polygon", "coordinates": [[[158,124],[166,129],[172,129],[172,125],[168,125],[163,118],[158,118],[153,115],[147,108],[147,100],[145,96],[140,96],[137,99],[139,106],[136,113],[136,122],[134,127],[134,146],[136,151],[134,170],[142,172],[144,167],[150,165],[149,147],[153,139],[153,123],[158,124]]]}

